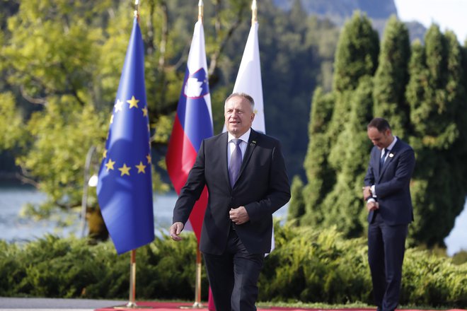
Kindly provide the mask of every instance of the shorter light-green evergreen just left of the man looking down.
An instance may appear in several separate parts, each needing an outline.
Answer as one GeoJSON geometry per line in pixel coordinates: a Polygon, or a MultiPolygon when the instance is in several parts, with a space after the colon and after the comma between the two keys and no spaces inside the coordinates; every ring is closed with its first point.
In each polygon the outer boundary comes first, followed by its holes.
{"type": "Polygon", "coordinates": [[[349,121],[343,126],[336,144],[340,146],[340,152],[331,155],[341,158],[341,168],[337,172],[335,187],[325,197],[322,208],[326,211],[323,225],[336,225],[341,232],[352,237],[362,235],[366,223],[362,184],[371,150],[367,124],[373,117],[372,92],[371,77],[366,76],[360,79],[357,90],[352,93],[349,121]]]}

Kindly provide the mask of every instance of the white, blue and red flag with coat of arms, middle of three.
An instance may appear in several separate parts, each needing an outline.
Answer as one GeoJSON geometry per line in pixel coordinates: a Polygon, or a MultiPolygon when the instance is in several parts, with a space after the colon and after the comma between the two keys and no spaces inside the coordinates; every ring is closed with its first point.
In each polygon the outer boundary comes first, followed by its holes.
{"type": "MultiPolygon", "coordinates": [[[[195,164],[202,140],[213,134],[204,30],[202,21],[198,20],[195,24],[187,70],[166,154],[167,172],[177,194],[180,194],[188,179],[188,173],[195,164]]],[[[190,223],[198,242],[207,206],[207,195],[207,187],[204,187],[200,199],[190,214],[190,223]]]]}

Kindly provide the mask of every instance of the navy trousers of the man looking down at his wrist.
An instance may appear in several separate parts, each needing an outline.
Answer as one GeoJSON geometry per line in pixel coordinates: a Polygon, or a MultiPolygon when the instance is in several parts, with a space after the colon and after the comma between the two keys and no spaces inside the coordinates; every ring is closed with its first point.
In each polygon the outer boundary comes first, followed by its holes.
{"type": "Polygon", "coordinates": [[[368,228],[368,261],[378,310],[395,310],[400,295],[408,225],[386,225],[376,212],[368,228]]]}

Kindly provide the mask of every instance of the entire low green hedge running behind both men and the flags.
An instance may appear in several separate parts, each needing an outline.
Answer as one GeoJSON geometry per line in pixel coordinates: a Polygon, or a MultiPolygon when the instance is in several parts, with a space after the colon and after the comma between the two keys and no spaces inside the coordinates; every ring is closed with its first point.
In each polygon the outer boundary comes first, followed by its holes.
{"type": "MultiPolygon", "coordinates": [[[[364,238],[347,240],[334,228],[275,228],[275,250],[260,276],[260,301],[372,304],[364,238]]],[[[137,299],[193,300],[196,240],[163,236],[137,250],[137,299]]],[[[207,299],[202,271],[202,298],[207,299]]],[[[25,245],[0,241],[0,296],[126,299],[129,254],[110,242],[49,235],[25,245]]],[[[403,268],[403,305],[467,307],[467,263],[453,264],[409,249],[403,268]]]]}

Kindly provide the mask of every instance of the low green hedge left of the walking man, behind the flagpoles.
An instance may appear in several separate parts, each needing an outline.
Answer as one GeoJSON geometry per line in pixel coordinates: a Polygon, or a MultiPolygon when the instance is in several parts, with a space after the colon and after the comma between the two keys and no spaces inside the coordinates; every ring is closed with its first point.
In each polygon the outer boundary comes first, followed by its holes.
{"type": "MultiPolygon", "coordinates": [[[[196,240],[156,239],[137,250],[137,297],[194,297],[196,240]]],[[[204,272],[204,271],[203,271],[204,272]]],[[[207,281],[204,278],[204,288],[207,281]]],[[[0,241],[0,296],[118,298],[129,293],[129,254],[110,242],[95,246],[48,235],[24,247],[0,241]]]]}

